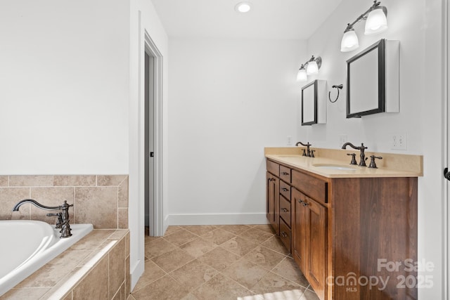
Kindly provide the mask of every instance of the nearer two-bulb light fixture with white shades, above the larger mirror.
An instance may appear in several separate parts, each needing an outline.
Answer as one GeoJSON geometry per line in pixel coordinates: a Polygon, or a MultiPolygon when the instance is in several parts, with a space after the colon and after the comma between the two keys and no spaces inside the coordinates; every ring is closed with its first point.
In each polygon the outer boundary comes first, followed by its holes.
{"type": "Polygon", "coordinates": [[[380,1],[373,1],[373,5],[365,13],[360,15],[354,22],[348,23],[344,31],[344,36],[340,42],[340,51],[349,52],[359,47],[358,36],[354,32],[353,26],[361,21],[366,20],[364,34],[373,35],[387,30],[387,8],[380,6],[380,1]]]}

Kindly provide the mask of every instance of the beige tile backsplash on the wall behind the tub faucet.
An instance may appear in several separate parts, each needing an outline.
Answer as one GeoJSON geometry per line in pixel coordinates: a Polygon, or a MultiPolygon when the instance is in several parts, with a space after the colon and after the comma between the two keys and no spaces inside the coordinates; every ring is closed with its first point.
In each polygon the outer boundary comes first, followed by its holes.
{"type": "Polygon", "coordinates": [[[49,211],[24,204],[34,199],[46,206],[66,200],[70,222],[92,223],[94,228],[128,228],[128,175],[0,175],[0,220],[32,219],[56,223],[49,211]]]}

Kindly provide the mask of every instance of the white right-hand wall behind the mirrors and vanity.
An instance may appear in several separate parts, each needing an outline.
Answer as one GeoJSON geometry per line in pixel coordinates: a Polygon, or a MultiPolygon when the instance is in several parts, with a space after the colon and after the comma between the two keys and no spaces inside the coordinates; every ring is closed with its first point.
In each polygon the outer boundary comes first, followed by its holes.
{"type": "MultiPolygon", "coordinates": [[[[340,39],[348,22],[370,6],[368,1],[345,0],[308,40],[308,52],[323,59],[314,78],[344,84],[337,103],[328,102],[326,125],[302,126],[298,138],[316,147],[340,148],[339,135],[352,143],[364,142],[368,150],[424,156],[424,176],[418,186],[418,257],[435,264],[433,287],[419,289],[420,299],[442,299],[443,263],[443,84],[442,0],[384,0],[387,32],[364,35],[364,22],[355,26],[360,47],[340,52],[340,39]],[[345,118],[346,60],[381,38],[400,41],[400,112],[345,118]],[[432,58],[432,59],[428,59],[432,58]],[[406,133],[407,150],[391,150],[390,133],[406,133]]],[[[333,91],[335,95],[335,90],[333,91]]]]}

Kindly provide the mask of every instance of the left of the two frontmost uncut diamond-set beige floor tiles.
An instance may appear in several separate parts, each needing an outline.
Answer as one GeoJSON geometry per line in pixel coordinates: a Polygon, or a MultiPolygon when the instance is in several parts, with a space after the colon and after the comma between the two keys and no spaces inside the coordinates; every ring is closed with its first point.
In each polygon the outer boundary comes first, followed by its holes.
{"type": "Polygon", "coordinates": [[[218,272],[198,259],[187,263],[170,273],[181,285],[192,291],[214,277],[218,272]]]}

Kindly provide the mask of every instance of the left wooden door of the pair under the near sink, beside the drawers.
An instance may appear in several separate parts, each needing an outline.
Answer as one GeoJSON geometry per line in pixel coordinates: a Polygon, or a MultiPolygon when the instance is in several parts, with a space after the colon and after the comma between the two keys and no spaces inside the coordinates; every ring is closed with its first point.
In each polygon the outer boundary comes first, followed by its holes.
{"type": "Polygon", "coordinates": [[[293,188],[291,199],[291,202],[293,203],[293,214],[291,216],[293,256],[295,262],[300,267],[300,270],[306,274],[307,207],[304,206],[306,196],[300,193],[299,190],[293,188]]]}

